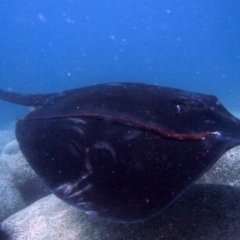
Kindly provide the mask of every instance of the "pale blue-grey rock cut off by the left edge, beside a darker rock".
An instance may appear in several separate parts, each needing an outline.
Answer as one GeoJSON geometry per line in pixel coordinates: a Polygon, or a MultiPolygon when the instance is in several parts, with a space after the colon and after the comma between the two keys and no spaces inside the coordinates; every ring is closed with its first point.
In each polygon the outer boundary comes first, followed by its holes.
{"type": "Polygon", "coordinates": [[[0,221],[26,207],[7,165],[0,161],[0,221]]]}

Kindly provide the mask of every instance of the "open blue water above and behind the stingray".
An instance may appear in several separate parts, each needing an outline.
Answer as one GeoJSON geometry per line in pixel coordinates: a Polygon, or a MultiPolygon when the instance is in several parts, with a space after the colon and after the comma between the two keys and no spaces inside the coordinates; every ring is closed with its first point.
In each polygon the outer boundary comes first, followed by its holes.
{"type": "MultiPolygon", "coordinates": [[[[240,1],[2,0],[0,88],[138,81],[214,94],[240,112],[240,1]]],[[[27,108],[0,101],[0,129],[27,108]]]]}

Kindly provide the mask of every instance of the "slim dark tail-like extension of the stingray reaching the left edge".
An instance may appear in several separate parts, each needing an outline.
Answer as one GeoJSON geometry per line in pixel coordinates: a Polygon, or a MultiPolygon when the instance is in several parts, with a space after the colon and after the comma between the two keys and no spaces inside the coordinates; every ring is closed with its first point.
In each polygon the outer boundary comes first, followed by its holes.
{"type": "Polygon", "coordinates": [[[59,94],[19,94],[0,90],[0,99],[25,106],[42,106],[59,94]]]}

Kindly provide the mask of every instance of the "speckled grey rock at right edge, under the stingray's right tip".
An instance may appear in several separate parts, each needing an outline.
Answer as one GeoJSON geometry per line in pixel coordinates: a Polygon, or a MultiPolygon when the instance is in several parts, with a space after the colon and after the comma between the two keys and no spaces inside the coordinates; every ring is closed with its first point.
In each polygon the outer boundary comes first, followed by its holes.
{"type": "Polygon", "coordinates": [[[227,184],[240,187],[240,146],[223,154],[198,183],[227,184]]]}

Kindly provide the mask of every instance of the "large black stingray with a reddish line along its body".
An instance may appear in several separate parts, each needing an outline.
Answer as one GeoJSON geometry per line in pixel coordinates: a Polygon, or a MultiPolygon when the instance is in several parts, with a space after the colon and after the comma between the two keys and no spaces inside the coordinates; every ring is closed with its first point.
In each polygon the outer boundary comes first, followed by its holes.
{"type": "Polygon", "coordinates": [[[240,120],[216,97],[180,89],[112,83],[0,98],[34,107],[16,138],[48,188],[110,221],[162,212],[240,144],[240,120]]]}

